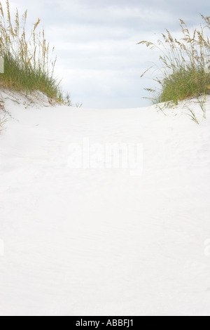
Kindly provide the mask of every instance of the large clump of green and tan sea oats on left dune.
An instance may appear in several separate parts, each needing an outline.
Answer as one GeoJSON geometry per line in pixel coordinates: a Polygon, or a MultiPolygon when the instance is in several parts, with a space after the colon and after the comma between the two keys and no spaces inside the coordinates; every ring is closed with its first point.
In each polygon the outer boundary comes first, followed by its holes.
{"type": "Polygon", "coordinates": [[[0,56],[4,60],[4,73],[0,74],[0,87],[16,91],[38,90],[49,98],[64,102],[64,95],[54,78],[56,57],[50,52],[44,29],[38,31],[40,19],[29,35],[26,29],[27,11],[22,15],[16,10],[12,22],[10,6],[6,1],[6,13],[0,2],[0,56]],[[49,55],[51,53],[51,55],[49,55]]]}

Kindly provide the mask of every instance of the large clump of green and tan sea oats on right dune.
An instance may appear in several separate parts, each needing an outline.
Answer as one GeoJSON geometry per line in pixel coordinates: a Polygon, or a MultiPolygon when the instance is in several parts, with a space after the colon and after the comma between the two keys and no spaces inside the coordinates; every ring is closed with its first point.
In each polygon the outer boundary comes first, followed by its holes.
{"type": "MultiPolygon", "coordinates": [[[[210,41],[205,33],[210,29],[210,17],[204,15],[201,17],[204,25],[200,25],[200,29],[194,29],[193,34],[190,34],[186,23],[180,20],[183,34],[180,40],[174,38],[166,29],[157,45],[150,41],[138,43],[145,44],[150,49],[158,48],[161,52],[160,66],[155,65],[160,70],[161,77],[154,79],[160,84],[160,89],[158,96],[156,94],[155,98],[152,98],[153,103],[172,100],[177,104],[179,100],[210,93],[210,73],[207,70],[210,65],[207,62],[210,55],[210,41]]],[[[157,93],[151,88],[146,90],[157,93]]]]}

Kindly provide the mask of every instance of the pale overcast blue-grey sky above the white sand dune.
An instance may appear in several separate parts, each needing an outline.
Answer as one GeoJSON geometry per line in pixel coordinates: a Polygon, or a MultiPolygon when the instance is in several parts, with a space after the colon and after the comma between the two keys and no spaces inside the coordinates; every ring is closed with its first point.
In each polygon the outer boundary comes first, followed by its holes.
{"type": "Polygon", "coordinates": [[[158,53],[137,42],[155,41],[165,28],[177,33],[179,18],[195,27],[200,13],[210,15],[209,0],[10,0],[10,6],[28,9],[29,24],[41,18],[63,88],[74,103],[95,108],[150,105],[142,97],[152,76],[140,76],[158,53]]]}

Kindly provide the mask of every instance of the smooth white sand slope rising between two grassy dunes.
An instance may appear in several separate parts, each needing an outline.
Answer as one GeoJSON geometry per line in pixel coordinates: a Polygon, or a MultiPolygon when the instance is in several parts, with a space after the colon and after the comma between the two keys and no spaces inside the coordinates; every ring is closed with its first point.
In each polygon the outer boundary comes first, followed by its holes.
{"type": "Polygon", "coordinates": [[[166,117],[6,99],[1,315],[210,315],[210,99],[200,125],[182,106],[166,117]],[[69,168],[84,138],[142,143],[143,175],[69,168]]]}

